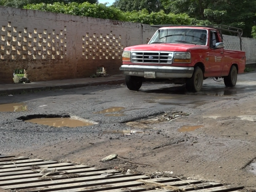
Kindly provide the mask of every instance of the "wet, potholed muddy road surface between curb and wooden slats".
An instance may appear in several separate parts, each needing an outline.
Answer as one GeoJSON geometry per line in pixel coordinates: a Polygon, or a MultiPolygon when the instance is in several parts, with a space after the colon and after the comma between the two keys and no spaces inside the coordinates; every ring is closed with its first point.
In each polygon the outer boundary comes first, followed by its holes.
{"type": "Polygon", "coordinates": [[[223,81],[207,79],[198,93],[180,85],[144,84],[139,92],[102,85],[2,96],[1,103],[20,103],[16,111],[21,111],[0,112],[0,153],[139,172],[172,171],[256,188],[256,175],[248,166],[256,158],[255,75],[238,76],[236,87],[229,89],[223,81]],[[17,119],[35,114],[66,114],[91,125],[52,127],[17,119]],[[155,120],[145,120],[148,116],[155,120]],[[129,134],[131,130],[140,132],[129,134]],[[100,162],[110,154],[122,159],[100,162]]]}

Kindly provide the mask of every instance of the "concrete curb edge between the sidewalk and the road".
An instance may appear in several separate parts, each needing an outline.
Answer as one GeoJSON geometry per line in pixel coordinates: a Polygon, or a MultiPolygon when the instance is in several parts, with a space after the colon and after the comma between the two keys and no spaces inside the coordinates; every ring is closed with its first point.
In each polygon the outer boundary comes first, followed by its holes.
{"type": "Polygon", "coordinates": [[[107,80],[100,82],[90,82],[90,83],[76,83],[76,84],[64,84],[64,85],[52,85],[52,86],[40,86],[40,87],[28,87],[28,88],[18,88],[18,89],[10,89],[10,90],[0,90],[1,95],[9,95],[9,94],[24,94],[29,92],[40,92],[40,91],[50,91],[57,89],[72,89],[79,87],[87,87],[87,86],[97,86],[97,85],[113,85],[113,84],[124,84],[124,78],[115,79],[115,80],[107,80]]]}

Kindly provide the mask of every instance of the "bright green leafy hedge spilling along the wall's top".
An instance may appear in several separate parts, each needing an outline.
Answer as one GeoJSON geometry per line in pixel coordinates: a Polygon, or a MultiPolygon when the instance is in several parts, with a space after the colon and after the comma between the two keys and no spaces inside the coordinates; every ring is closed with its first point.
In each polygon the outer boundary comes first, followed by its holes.
{"type": "Polygon", "coordinates": [[[187,14],[166,14],[164,11],[151,12],[150,14],[146,9],[142,11],[122,12],[115,7],[108,7],[105,4],[89,4],[87,2],[83,4],[77,3],[53,3],[53,4],[29,4],[24,6],[25,9],[41,10],[48,12],[66,13],[71,15],[95,17],[102,19],[120,20],[139,22],[144,24],[176,24],[176,25],[188,25],[190,24],[190,18],[187,14]]]}

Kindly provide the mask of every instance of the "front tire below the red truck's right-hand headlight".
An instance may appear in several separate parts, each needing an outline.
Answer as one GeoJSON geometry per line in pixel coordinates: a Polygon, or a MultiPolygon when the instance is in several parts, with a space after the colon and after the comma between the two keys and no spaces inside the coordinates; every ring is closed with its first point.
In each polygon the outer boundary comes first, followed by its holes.
{"type": "Polygon", "coordinates": [[[204,81],[203,71],[200,67],[194,69],[194,73],[191,78],[186,80],[186,89],[189,92],[199,92],[202,89],[204,81]]]}

